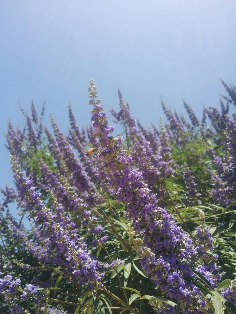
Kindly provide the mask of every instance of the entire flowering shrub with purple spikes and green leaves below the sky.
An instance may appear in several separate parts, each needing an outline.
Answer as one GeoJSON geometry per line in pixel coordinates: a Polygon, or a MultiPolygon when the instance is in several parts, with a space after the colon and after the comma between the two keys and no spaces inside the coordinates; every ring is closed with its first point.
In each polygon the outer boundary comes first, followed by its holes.
{"type": "Polygon", "coordinates": [[[223,84],[221,113],[199,120],[184,101],[186,119],[161,100],[167,121],[148,130],[119,91],[117,136],[93,79],[86,129],[71,106],[68,135],[33,103],[23,131],[8,122],[1,313],[236,312],[236,89],[223,84]]]}

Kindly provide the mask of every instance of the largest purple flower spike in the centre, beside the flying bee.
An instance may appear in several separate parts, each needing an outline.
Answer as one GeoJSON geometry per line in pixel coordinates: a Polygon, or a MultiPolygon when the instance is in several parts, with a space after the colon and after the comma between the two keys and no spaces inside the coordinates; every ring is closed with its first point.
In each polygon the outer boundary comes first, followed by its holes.
{"type": "Polygon", "coordinates": [[[91,113],[99,157],[106,162],[116,199],[126,203],[126,215],[134,230],[143,234],[138,249],[141,265],[163,292],[177,299],[185,313],[190,313],[190,309],[198,307],[198,289],[185,283],[182,274],[191,274],[187,261],[195,256],[192,240],[171,214],[157,207],[157,198],[143,181],[142,173],[132,167],[132,157],[122,150],[118,138],[110,136],[113,127],[108,125],[103,105],[95,102],[91,113]]]}

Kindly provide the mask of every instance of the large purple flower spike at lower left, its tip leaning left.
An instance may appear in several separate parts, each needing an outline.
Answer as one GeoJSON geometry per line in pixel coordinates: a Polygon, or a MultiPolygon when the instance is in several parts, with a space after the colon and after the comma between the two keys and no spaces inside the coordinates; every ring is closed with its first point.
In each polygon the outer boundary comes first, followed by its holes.
{"type": "MultiPolygon", "coordinates": [[[[78,280],[81,284],[100,284],[103,273],[99,273],[99,269],[102,265],[86,252],[87,246],[83,238],[77,236],[75,224],[63,213],[63,208],[56,203],[56,214],[53,214],[49,208],[43,206],[40,194],[32,187],[31,181],[25,178],[13,157],[12,169],[25,209],[31,212],[31,218],[38,227],[38,235],[36,234],[38,243],[25,241],[33,256],[41,262],[46,259],[62,264],[65,267],[65,275],[72,280],[78,280]],[[39,226],[43,228],[40,230],[39,226]]],[[[25,237],[20,231],[18,236],[24,241],[25,237]]]]}

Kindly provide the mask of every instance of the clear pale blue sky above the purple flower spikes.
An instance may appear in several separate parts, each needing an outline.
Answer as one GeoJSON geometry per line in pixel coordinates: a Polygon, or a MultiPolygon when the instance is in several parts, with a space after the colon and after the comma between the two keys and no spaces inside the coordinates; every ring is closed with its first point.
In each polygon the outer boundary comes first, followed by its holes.
{"type": "MultiPolygon", "coordinates": [[[[71,102],[79,125],[90,120],[88,80],[107,110],[121,89],[135,118],[148,127],[167,106],[198,116],[219,107],[219,77],[236,83],[235,0],[2,0],[0,2],[1,131],[24,125],[18,101],[31,99],[59,127],[69,126],[71,102]]],[[[1,132],[0,186],[11,184],[1,132]]]]}

